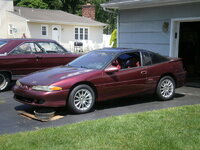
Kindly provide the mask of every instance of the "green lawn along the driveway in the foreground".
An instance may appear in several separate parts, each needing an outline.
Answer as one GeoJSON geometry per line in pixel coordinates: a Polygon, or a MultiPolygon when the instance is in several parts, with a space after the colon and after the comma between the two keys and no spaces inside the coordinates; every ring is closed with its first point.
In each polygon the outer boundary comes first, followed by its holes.
{"type": "Polygon", "coordinates": [[[198,150],[200,105],[0,136],[4,150],[198,150]]]}

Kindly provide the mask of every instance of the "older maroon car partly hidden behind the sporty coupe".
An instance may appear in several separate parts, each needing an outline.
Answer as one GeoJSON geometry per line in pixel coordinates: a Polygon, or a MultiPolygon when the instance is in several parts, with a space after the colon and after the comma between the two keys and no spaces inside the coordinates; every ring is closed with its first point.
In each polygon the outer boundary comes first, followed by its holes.
{"type": "Polygon", "coordinates": [[[11,80],[77,57],[53,40],[0,39],[0,91],[6,90],[11,80]]]}

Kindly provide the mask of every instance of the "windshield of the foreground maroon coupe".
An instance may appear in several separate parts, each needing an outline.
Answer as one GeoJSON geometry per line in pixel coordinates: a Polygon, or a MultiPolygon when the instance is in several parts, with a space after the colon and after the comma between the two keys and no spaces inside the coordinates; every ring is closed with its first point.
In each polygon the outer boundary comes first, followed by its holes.
{"type": "Polygon", "coordinates": [[[77,68],[88,68],[88,69],[102,69],[109,61],[111,61],[115,56],[115,53],[111,52],[90,52],[85,54],[67,66],[77,67],[77,68]]]}

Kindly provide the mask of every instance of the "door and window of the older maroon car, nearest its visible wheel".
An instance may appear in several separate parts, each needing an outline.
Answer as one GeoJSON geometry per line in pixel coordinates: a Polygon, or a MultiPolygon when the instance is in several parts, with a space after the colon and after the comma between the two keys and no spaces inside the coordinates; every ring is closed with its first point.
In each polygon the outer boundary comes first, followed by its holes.
{"type": "Polygon", "coordinates": [[[26,75],[38,70],[37,57],[32,42],[25,42],[13,49],[7,56],[7,66],[13,75],[26,75]]]}

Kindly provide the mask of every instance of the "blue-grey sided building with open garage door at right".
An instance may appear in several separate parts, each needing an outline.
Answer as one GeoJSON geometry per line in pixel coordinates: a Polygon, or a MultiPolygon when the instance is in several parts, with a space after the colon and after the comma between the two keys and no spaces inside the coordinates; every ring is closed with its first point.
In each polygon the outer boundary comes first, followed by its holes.
{"type": "Polygon", "coordinates": [[[200,0],[111,0],[118,11],[118,46],[148,49],[183,58],[189,74],[200,77],[200,0]]]}

